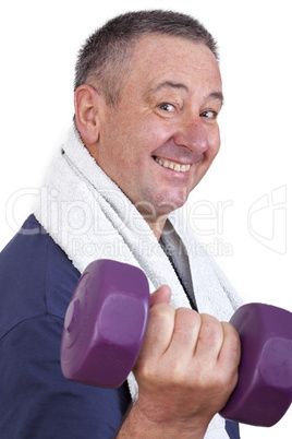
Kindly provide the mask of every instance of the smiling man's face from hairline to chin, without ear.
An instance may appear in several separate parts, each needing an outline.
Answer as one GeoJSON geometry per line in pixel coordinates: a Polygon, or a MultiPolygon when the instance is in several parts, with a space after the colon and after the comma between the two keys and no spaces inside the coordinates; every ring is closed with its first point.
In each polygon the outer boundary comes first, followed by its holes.
{"type": "Polygon", "coordinates": [[[98,115],[94,156],[144,216],[158,217],[185,203],[219,151],[221,76],[211,51],[183,38],[144,37],[130,62],[118,108],[98,115]]]}

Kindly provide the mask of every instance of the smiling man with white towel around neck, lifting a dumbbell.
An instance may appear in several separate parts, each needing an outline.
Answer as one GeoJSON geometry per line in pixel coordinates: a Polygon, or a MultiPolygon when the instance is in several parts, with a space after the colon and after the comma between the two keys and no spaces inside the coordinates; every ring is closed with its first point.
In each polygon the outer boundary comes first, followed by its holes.
{"type": "Polygon", "coordinates": [[[179,210],[219,151],[222,102],[216,43],[188,16],[129,13],[86,41],[74,129],[1,253],[2,437],[239,437],[216,414],[240,361],[220,321],[240,300],[179,210]],[[154,293],[134,376],[117,390],[60,368],[66,307],[100,258],[141,266],[154,293]]]}

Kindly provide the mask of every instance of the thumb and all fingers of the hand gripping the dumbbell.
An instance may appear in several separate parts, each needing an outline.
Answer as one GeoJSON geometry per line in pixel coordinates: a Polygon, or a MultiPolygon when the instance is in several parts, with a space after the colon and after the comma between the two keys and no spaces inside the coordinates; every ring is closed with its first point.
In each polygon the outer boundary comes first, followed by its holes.
{"type": "Polygon", "coordinates": [[[162,285],[150,297],[145,352],[157,358],[167,349],[173,358],[191,359],[211,369],[217,361],[230,372],[240,363],[240,339],[235,329],[215,317],[187,308],[174,310],[168,302],[171,289],[162,285]],[[157,349],[157,346],[160,346],[157,349]]]}

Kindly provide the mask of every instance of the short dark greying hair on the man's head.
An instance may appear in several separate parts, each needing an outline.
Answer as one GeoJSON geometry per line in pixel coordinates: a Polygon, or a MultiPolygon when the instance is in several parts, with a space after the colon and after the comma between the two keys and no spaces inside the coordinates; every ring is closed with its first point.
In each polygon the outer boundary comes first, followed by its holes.
{"type": "Polygon", "coordinates": [[[205,44],[218,60],[217,43],[197,20],[172,11],[137,11],[119,15],[88,37],[75,67],[74,90],[89,84],[104,94],[108,105],[118,105],[129,59],[138,38],[170,35],[205,44]]]}

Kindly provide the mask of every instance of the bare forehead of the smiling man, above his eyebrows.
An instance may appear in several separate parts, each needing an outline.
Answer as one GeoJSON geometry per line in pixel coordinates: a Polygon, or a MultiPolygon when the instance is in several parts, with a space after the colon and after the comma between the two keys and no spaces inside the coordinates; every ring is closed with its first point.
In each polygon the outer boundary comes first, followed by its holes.
{"type": "Polygon", "coordinates": [[[147,92],[161,81],[221,90],[218,62],[206,45],[165,35],[142,37],[133,49],[127,85],[147,92]]]}

